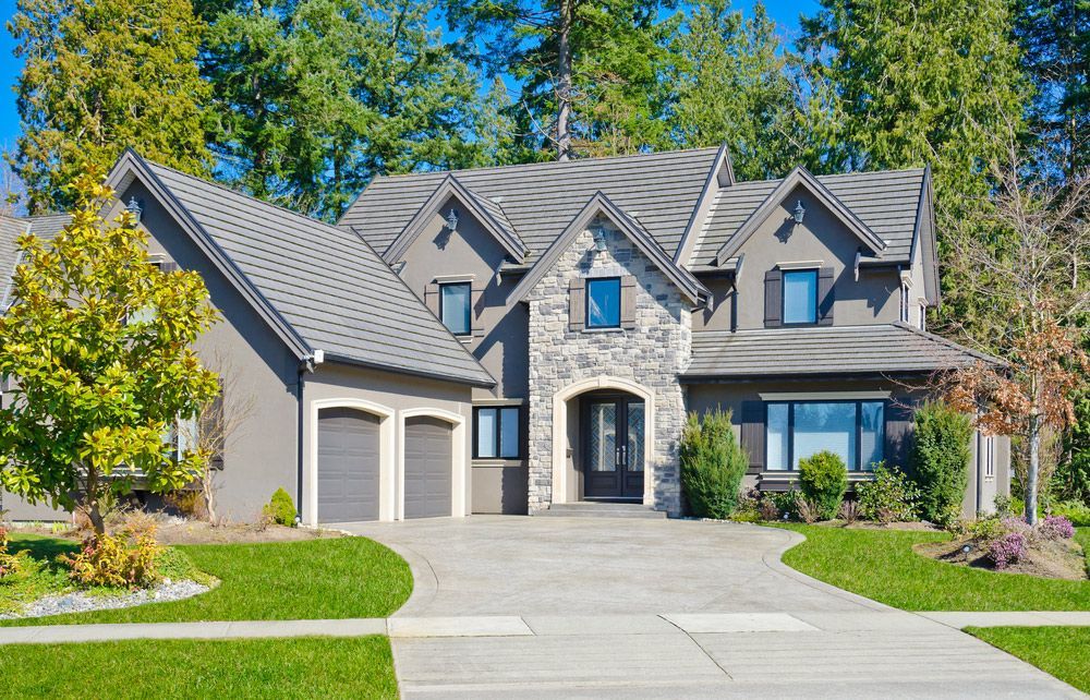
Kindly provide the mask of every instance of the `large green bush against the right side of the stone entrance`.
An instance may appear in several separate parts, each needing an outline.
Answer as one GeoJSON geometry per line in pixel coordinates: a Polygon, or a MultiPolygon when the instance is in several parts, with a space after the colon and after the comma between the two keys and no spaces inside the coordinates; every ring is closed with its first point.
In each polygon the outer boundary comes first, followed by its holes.
{"type": "Polygon", "coordinates": [[[681,488],[689,509],[701,518],[725,519],[738,503],[749,457],[730,427],[730,412],[689,414],[681,433],[681,488]]]}

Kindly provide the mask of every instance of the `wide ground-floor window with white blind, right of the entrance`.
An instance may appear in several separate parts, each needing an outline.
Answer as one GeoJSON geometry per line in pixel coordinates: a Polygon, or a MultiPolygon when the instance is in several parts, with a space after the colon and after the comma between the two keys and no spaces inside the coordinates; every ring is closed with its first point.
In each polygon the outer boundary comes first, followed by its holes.
{"type": "Polygon", "coordinates": [[[826,449],[839,455],[852,471],[869,471],[882,461],[882,401],[777,401],[765,407],[770,470],[798,470],[799,461],[826,449]]]}

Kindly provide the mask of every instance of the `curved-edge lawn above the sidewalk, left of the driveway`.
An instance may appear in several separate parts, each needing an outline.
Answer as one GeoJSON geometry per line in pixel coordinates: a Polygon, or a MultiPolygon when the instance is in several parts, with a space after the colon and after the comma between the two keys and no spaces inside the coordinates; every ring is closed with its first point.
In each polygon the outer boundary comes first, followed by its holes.
{"type": "MultiPolygon", "coordinates": [[[[11,550],[33,547],[53,556],[75,546],[63,540],[15,533],[11,541],[11,550]]],[[[220,584],[184,601],[2,620],[0,625],[386,617],[412,592],[409,565],[364,538],[178,548],[197,568],[220,579],[220,584]]]]}

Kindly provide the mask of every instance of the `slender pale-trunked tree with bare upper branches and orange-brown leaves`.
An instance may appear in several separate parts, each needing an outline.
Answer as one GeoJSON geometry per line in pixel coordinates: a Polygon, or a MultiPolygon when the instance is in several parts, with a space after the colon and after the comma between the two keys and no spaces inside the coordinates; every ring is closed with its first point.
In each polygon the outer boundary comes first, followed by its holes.
{"type": "Polygon", "coordinates": [[[1013,132],[1006,148],[1006,158],[993,162],[997,188],[980,206],[981,219],[956,221],[950,240],[964,292],[990,303],[986,335],[971,326],[969,335],[986,337],[1008,366],[956,372],[949,396],[962,410],[979,410],[984,430],[1024,440],[1026,518],[1033,523],[1043,436],[1075,421],[1073,399],[1090,372],[1077,325],[1090,305],[1090,224],[1081,215],[1090,179],[1080,174],[1061,186],[1039,177],[1013,132]],[[981,228],[997,234],[984,239],[981,228]]]}

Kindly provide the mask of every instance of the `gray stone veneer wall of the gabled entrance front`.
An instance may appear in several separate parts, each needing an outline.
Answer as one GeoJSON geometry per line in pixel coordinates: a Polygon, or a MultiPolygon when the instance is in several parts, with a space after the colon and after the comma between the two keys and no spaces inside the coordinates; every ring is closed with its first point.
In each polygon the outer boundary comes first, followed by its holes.
{"type": "Polygon", "coordinates": [[[595,253],[593,236],[583,231],[526,298],[530,511],[548,508],[553,498],[553,396],[574,382],[607,375],[637,382],[654,394],[654,450],[644,479],[653,480],[655,508],[679,515],[678,440],[686,408],[678,374],[690,358],[691,309],[674,282],[627,236],[609,227],[606,231],[607,251],[595,253]],[[638,280],[635,329],[569,330],[569,281],[580,276],[623,275],[638,280]]]}

